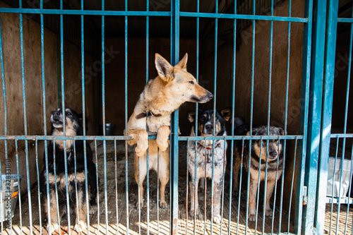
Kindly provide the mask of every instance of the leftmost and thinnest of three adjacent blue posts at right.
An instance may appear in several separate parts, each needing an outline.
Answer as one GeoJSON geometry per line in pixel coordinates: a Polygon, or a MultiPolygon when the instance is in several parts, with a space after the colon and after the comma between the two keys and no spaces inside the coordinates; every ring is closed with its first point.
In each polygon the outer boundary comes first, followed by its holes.
{"type": "MultiPolygon", "coordinates": [[[[294,216],[294,233],[301,234],[302,214],[303,214],[303,193],[304,193],[304,172],[306,162],[306,135],[308,129],[309,116],[309,92],[310,92],[310,64],[311,64],[311,31],[313,28],[313,0],[306,0],[304,17],[308,23],[304,25],[304,43],[303,43],[303,76],[301,82],[301,117],[300,133],[304,136],[300,143],[301,155],[298,157],[298,178],[296,190],[296,207],[294,216]]],[[[306,224],[304,223],[303,229],[306,224]]]]}

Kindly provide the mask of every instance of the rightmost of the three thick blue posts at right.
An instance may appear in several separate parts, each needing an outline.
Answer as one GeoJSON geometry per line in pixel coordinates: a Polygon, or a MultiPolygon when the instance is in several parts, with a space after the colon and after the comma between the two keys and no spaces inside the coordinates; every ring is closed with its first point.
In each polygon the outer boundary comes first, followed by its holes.
{"type": "MultiPolygon", "coordinates": [[[[316,193],[316,231],[323,234],[325,220],[326,186],[328,179],[328,157],[330,155],[330,134],[333,108],[333,83],[335,78],[335,49],[337,32],[338,1],[328,1],[328,25],[325,41],[325,71],[323,82],[323,114],[321,120],[321,146],[318,162],[318,189],[316,193]]],[[[352,56],[352,55],[350,55],[352,56]]],[[[343,162],[343,161],[342,161],[343,162]]],[[[331,214],[332,215],[332,214],[331,214]]],[[[338,223],[337,219],[337,223],[338,223]]]]}

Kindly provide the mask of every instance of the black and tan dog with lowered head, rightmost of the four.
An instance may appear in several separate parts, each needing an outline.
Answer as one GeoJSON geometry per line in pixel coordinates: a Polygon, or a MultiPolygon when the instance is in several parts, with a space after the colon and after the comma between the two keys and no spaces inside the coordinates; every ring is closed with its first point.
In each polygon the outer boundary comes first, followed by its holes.
{"type": "MultiPolygon", "coordinates": [[[[241,125],[235,129],[235,135],[249,135],[249,125],[241,125]]],[[[252,135],[267,135],[268,126],[253,128],[252,135]]],[[[270,126],[269,135],[285,135],[282,128],[270,126]]],[[[266,157],[267,157],[267,187],[265,196],[265,215],[272,216],[270,198],[275,188],[276,172],[277,179],[280,179],[283,169],[283,140],[251,140],[251,157],[249,167],[249,140],[246,140],[244,147],[242,141],[236,141],[234,148],[234,188],[233,193],[239,191],[239,170],[241,167],[241,154],[243,153],[243,164],[246,171],[250,171],[249,188],[249,220],[256,220],[256,193],[258,191],[259,169],[261,171],[260,181],[265,181],[266,157]],[[268,142],[268,143],[267,143],[268,142]],[[242,152],[244,151],[244,152],[242,152]],[[261,160],[260,160],[261,159],[261,160]],[[261,166],[260,166],[261,162],[261,166]],[[278,165],[277,165],[278,162],[278,165]],[[278,166],[278,168],[277,168],[278,166]],[[278,170],[278,171],[277,171],[278,170]]]]}

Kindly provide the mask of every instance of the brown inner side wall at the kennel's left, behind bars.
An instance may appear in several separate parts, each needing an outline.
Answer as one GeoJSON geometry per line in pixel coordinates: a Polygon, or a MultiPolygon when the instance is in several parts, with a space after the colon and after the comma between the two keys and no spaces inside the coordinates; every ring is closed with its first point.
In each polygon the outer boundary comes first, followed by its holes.
{"type": "MultiPolygon", "coordinates": [[[[0,7],[8,7],[0,2],[0,7]]],[[[20,54],[20,18],[18,14],[1,13],[1,35],[3,39],[4,75],[6,85],[7,103],[7,134],[24,135],[24,112],[21,76],[20,54]]],[[[42,99],[42,68],[41,68],[41,39],[40,24],[23,16],[23,47],[24,47],[24,73],[25,73],[25,100],[28,135],[50,134],[50,115],[58,107],[58,54],[57,35],[44,29],[44,76],[45,76],[45,102],[47,112],[43,117],[42,99]],[[44,133],[44,121],[47,123],[47,133],[44,133]]],[[[92,56],[85,54],[85,64],[92,66],[92,56]]],[[[82,112],[80,88],[80,49],[70,42],[64,43],[64,78],[66,105],[82,112]]],[[[90,129],[94,130],[94,120],[91,118],[92,110],[92,78],[86,78],[86,112],[90,129]]],[[[2,84],[0,85],[0,135],[4,135],[4,97],[2,84]]],[[[21,192],[27,191],[26,169],[30,174],[30,186],[37,183],[35,141],[28,141],[28,164],[25,160],[25,141],[18,141],[18,171],[16,163],[15,141],[8,140],[7,157],[11,159],[11,173],[23,174],[20,187],[21,192]]],[[[37,146],[38,160],[42,168],[42,141],[37,146]]],[[[4,141],[0,141],[1,172],[5,173],[4,141]]],[[[40,169],[41,170],[41,169],[40,169]]]]}

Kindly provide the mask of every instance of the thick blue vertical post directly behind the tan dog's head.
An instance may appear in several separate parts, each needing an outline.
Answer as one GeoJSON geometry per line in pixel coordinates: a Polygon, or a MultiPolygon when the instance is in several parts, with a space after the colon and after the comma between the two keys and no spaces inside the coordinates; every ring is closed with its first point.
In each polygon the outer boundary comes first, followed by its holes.
{"type": "MultiPolygon", "coordinates": [[[[171,1],[171,62],[172,65],[179,61],[179,20],[180,0],[171,1]]],[[[178,177],[179,177],[179,110],[172,115],[172,139],[170,141],[170,234],[178,234],[178,177]]]]}

